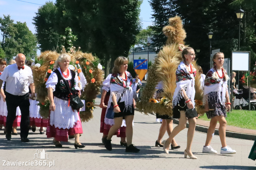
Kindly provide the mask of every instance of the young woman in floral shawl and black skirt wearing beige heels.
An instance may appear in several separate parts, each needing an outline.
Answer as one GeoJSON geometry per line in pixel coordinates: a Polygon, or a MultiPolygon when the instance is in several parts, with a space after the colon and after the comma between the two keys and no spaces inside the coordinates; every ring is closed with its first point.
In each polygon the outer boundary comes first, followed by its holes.
{"type": "Polygon", "coordinates": [[[196,117],[198,116],[194,102],[196,69],[191,64],[195,57],[195,51],[191,47],[184,48],[182,51],[183,61],[180,62],[176,70],[176,89],[173,95],[173,118],[179,119],[179,124],[173,129],[169,138],[162,142],[164,152],[168,154],[171,141],[180,131],[186,128],[188,118],[187,147],[184,151],[184,157],[189,156],[190,159],[197,159],[191,151],[196,117]]]}

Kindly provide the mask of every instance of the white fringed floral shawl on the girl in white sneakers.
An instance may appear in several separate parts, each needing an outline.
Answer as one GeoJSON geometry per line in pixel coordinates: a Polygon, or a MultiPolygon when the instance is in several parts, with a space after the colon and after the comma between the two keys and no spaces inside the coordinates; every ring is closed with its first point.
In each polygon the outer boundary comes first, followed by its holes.
{"type": "Polygon", "coordinates": [[[228,79],[229,77],[227,75],[226,70],[224,70],[223,80],[219,78],[214,68],[211,68],[207,72],[205,77],[205,86],[204,86],[204,99],[203,99],[204,105],[206,101],[209,101],[215,97],[213,95],[217,95],[218,101],[220,101],[222,105],[225,105],[226,91],[228,90],[228,85],[227,85],[228,79]],[[209,94],[210,92],[218,92],[218,93],[209,94]],[[221,92],[222,92],[222,97],[221,97],[221,92]]]}

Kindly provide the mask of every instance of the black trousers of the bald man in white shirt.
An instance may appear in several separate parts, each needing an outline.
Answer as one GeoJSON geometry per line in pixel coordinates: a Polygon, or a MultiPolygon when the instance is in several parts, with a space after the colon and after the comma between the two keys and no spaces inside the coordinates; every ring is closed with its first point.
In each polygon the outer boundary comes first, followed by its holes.
{"type": "Polygon", "coordinates": [[[20,121],[20,137],[27,138],[29,131],[29,94],[22,96],[12,95],[5,92],[6,95],[6,105],[7,105],[7,117],[6,117],[6,133],[12,133],[13,121],[16,118],[16,109],[19,106],[21,112],[21,121],[20,121]]]}

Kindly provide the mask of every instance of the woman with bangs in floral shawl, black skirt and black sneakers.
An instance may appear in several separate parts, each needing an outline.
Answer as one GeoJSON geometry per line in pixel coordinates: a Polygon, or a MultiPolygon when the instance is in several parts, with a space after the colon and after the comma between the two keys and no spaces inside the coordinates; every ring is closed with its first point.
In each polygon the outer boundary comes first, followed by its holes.
{"type": "Polygon", "coordinates": [[[133,99],[132,75],[126,71],[127,64],[127,58],[118,57],[112,69],[110,78],[111,97],[109,98],[108,109],[110,106],[114,108],[114,125],[110,128],[108,136],[104,139],[104,145],[107,150],[112,150],[111,138],[122,125],[123,119],[125,119],[127,140],[125,152],[139,152],[140,149],[137,149],[132,144],[135,100],[133,99]]]}

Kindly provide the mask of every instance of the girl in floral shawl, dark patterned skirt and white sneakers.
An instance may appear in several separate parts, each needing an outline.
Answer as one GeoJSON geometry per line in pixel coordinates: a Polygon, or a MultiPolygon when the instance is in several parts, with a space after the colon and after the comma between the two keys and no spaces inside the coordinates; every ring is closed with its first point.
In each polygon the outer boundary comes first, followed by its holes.
{"type": "Polygon", "coordinates": [[[207,137],[205,145],[203,147],[203,153],[216,154],[217,151],[211,146],[211,140],[215,132],[217,122],[219,122],[219,136],[221,142],[220,154],[234,154],[235,150],[232,150],[226,144],[226,124],[227,111],[230,110],[230,100],[228,93],[228,75],[226,70],[223,68],[224,54],[217,52],[212,57],[214,67],[211,68],[205,78],[204,87],[204,105],[208,119],[211,119],[210,126],[207,131],[207,137]],[[225,103],[226,102],[226,103],[225,103]]]}

